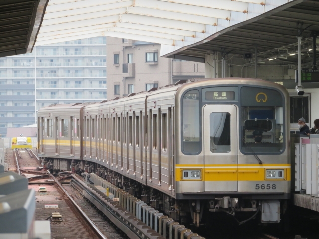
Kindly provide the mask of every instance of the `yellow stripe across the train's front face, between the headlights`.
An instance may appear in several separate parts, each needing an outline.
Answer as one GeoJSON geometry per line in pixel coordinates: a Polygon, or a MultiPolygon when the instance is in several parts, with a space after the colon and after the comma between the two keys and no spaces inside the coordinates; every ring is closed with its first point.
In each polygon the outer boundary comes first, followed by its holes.
{"type": "MultiPolygon", "coordinates": [[[[175,166],[176,181],[182,179],[183,170],[200,170],[200,179],[196,181],[265,181],[266,169],[283,169],[283,179],[291,180],[290,164],[177,164],[175,166]],[[204,173],[203,173],[204,172],[204,173]]],[[[191,179],[187,179],[189,181],[191,179]]]]}

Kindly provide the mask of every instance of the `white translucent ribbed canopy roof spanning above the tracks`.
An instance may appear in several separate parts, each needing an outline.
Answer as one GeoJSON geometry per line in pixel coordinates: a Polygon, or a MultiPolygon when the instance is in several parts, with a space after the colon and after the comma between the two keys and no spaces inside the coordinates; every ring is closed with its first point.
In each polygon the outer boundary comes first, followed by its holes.
{"type": "Polygon", "coordinates": [[[301,1],[50,0],[36,45],[111,36],[160,43],[167,53],[301,1]]]}

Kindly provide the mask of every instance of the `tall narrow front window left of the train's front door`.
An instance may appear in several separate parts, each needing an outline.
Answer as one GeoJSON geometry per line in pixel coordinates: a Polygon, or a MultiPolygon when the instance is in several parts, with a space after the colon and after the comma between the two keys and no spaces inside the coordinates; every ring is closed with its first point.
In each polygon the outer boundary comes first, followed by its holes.
{"type": "Polygon", "coordinates": [[[199,153],[200,151],[200,107],[199,91],[191,90],[183,97],[183,151],[199,153]]]}

